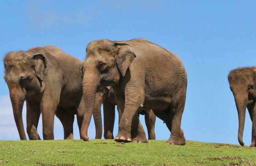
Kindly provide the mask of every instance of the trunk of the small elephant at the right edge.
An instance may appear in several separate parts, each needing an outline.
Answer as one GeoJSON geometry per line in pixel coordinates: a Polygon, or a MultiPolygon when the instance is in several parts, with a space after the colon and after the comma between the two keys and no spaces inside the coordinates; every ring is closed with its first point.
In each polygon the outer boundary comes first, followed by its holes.
{"type": "Polygon", "coordinates": [[[239,120],[238,141],[241,146],[244,146],[242,137],[244,133],[245,111],[246,111],[246,105],[248,103],[248,99],[246,97],[236,96],[235,101],[236,101],[238,120],[239,120]]]}

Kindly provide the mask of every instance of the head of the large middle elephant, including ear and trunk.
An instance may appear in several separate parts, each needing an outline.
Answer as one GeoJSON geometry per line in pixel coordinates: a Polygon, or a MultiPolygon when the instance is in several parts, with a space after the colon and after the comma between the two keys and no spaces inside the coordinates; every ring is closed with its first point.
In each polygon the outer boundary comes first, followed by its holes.
{"type": "Polygon", "coordinates": [[[113,86],[125,76],[136,57],[128,43],[98,40],[88,44],[84,60],[83,95],[86,112],[81,136],[88,141],[87,130],[94,109],[95,93],[100,87],[113,86]]]}

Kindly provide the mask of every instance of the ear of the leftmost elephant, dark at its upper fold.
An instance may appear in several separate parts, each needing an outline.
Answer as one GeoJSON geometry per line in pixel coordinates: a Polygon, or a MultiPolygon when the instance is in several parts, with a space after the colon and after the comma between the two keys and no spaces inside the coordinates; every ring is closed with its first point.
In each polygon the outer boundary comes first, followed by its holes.
{"type": "Polygon", "coordinates": [[[43,81],[44,80],[44,71],[45,71],[46,64],[47,64],[45,56],[44,56],[44,54],[39,52],[37,54],[34,54],[32,59],[35,60],[35,74],[41,81],[43,81]]]}

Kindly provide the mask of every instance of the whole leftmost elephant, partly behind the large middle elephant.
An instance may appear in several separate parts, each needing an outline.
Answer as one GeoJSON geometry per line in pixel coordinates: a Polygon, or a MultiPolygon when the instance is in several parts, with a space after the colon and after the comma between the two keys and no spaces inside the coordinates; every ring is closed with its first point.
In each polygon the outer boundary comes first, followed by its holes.
{"type": "Polygon", "coordinates": [[[40,139],[37,125],[41,113],[44,139],[54,139],[54,114],[63,125],[64,139],[73,139],[74,115],[80,130],[84,114],[82,62],[58,47],[46,46],[10,52],[4,58],[4,67],[20,139],[26,140],[22,120],[25,100],[30,140],[40,139]]]}

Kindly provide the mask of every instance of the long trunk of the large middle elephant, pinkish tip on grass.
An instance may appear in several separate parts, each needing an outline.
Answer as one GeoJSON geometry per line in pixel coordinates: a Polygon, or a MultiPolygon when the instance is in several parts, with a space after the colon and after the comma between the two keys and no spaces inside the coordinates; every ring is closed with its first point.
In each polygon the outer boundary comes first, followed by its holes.
{"type": "Polygon", "coordinates": [[[81,127],[81,137],[84,141],[88,141],[87,135],[88,127],[90,125],[91,116],[94,112],[94,102],[97,88],[99,85],[99,76],[97,72],[93,70],[85,70],[83,76],[83,96],[85,112],[83,117],[83,123],[81,127]]]}

